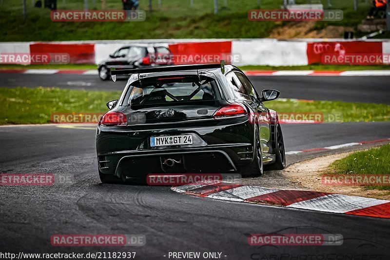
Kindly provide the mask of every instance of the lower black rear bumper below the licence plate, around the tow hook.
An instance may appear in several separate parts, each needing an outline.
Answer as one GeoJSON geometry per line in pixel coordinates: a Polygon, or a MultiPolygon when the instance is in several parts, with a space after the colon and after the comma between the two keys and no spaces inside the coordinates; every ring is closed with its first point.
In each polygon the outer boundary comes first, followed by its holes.
{"type": "Polygon", "coordinates": [[[227,173],[253,160],[252,144],[211,145],[202,148],[117,151],[98,154],[99,170],[117,177],[148,173],[227,173]],[[182,167],[164,167],[165,159],[182,160],[182,167]]]}

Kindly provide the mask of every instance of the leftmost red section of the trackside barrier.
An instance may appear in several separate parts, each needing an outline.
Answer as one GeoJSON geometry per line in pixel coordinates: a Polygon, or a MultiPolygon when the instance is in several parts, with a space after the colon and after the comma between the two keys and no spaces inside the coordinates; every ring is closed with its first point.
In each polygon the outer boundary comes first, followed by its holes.
{"type": "Polygon", "coordinates": [[[95,63],[94,44],[73,44],[73,43],[32,43],[30,44],[30,54],[40,53],[62,53],[69,55],[71,64],[95,63]]]}

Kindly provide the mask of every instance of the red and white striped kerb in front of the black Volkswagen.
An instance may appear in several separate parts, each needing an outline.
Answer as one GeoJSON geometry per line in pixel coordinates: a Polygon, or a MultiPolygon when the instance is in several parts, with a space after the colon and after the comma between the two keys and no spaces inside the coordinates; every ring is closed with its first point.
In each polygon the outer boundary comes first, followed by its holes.
{"type": "Polygon", "coordinates": [[[173,191],[217,200],[261,203],[349,215],[390,218],[390,201],[305,190],[279,190],[210,181],[172,187],[173,191]]]}

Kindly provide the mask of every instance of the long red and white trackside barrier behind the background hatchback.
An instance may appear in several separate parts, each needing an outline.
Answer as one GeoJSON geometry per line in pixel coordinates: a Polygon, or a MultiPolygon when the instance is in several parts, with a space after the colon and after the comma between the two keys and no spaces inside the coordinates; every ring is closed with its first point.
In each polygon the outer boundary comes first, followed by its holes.
{"type": "MultiPolygon", "coordinates": [[[[98,64],[119,47],[137,43],[168,46],[176,56],[208,55],[221,58],[234,56],[232,64],[237,66],[304,66],[321,63],[324,55],[339,57],[359,54],[389,56],[390,54],[389,40],[359,41],[343,39],[329,41],[318,39],[288,41],[276,39],[161,39],[44,43],[12,42],[0,43],[0,54],[66,53],[70,56],[70,63],[98,64]]],[[[215,61],[213,60],[213,62],[215,61]]],[[[385,63],[385,61],[383,62],[385,63]]]]}

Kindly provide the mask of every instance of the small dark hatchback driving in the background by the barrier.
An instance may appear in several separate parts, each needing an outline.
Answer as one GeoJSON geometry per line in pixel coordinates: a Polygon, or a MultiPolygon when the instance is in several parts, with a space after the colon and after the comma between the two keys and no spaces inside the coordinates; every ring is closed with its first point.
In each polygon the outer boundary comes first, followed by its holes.
{"type": "Polygon", "coordinates": [[[110,67],[137,69],[172,64],[173,55],[167,47],[149,44],[129,45],[119,48],[108,59],[100,62],[98,74],[101,80],[108,80],[110,67]]]}

